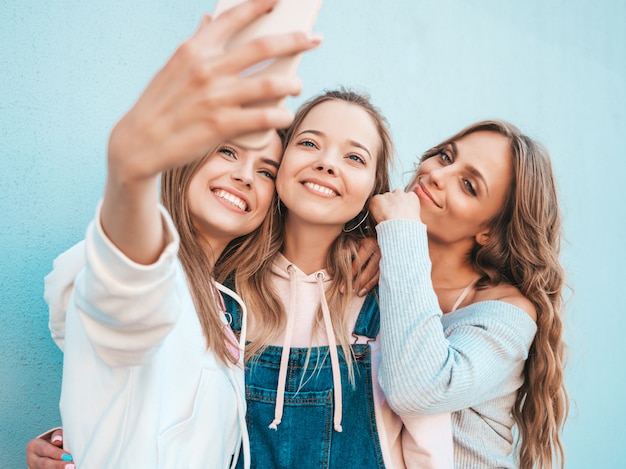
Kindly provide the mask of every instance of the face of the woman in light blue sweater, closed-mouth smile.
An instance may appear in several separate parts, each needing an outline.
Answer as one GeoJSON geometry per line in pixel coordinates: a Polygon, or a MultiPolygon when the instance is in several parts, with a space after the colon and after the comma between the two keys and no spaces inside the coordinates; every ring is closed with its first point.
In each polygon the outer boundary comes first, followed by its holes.
{"type": "Polygon", "coordinates": [[[502,210],[511,183],[509,139],[477,131],[423,161],[409,187],[430,239],[473,245],[486,242],[487,223],[502,210]]]}

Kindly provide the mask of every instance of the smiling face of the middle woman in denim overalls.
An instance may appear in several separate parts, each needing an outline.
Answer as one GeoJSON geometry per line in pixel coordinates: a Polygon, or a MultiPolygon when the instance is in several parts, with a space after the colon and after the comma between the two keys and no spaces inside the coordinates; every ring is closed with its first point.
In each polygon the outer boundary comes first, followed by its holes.
{"type": "Polygon", "coordinates": [[[380,148],[375,122],[360,106],[329,100],[312,108],[293,133],[276,180],[286,222],[341,231],[372,193],[380,148]]]}

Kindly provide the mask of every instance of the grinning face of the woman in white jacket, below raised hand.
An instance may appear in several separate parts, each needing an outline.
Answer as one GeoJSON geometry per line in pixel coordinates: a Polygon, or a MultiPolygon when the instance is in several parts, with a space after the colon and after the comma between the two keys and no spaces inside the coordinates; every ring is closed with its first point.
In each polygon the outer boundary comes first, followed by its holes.
{"type": "Polygon", "coordinates": [[[261,224],[274,196],[281,153],[277,134],[259,150],[226,143],[193,175],[187,190],[189,216],[214,251],[261,224]]]}

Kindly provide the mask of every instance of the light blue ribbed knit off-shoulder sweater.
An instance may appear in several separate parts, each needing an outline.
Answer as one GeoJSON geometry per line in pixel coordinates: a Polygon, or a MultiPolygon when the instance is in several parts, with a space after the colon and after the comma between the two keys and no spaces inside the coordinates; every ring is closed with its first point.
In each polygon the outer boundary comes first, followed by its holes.
{"type": "Polygon", "coordinates": [[[426,226],[389,220],[382,252],[379,379],[399,415],[453,412],[457,468],[514,468],[511,411],[536,332],[503,301],[443,314],[430,277],[426,226]]]}

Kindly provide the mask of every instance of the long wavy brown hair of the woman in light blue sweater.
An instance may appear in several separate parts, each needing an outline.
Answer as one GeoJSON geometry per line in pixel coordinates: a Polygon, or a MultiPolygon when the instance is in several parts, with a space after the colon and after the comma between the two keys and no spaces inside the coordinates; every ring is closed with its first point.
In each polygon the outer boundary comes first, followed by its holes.
{"type": "Polygon", "coordinates": [[[565,274],[559,262],[561,216],[547,150],[503,121],[473,124],[431,148],[420,163],[451,142],[478,131],[496,132],[511,145],[513,175],[503,209],[489,222],[489,238],[475,243],[469,261],[482,275],[477,288],[517,287],[537,311],[537,333],[524,366],[524,383],[513,408],[520,469],[564,466],[560,438],[569,400],[564,386],[565,274]]]}

